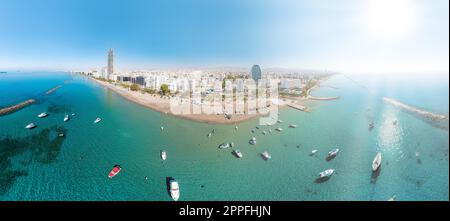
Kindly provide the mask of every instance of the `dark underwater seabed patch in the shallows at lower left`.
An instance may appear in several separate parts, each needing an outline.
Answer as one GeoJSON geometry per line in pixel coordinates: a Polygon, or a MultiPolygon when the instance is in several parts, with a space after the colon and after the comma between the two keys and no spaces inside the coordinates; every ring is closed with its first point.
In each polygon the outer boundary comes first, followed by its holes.
{"type": "Polygon", "coordinates": [[[24,138],[6,137],[0,140],[0,195],[5,194],[20,176],[26,176],[28,166],[32,161],[49,164],[56,160],[66,134],[64,127],[53,126],[43,129],[37,134],[24,138]],[[14,168],[11,159],[25,153],[31,153],[30,158],[22,160],[22,168],[14,168]]]}

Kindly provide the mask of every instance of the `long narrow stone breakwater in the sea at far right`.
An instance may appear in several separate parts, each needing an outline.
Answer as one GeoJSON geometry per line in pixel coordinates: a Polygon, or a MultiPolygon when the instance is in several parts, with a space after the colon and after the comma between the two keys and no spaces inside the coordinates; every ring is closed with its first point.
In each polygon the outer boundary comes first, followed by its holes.
{"type": "Polygon", "coordinates": [[[394,107],[397,107],[407,113],[419,117],[421,120],[429,123],[433,127],[437,127],[448,131],[449,119],[448,116],[446,115],[424,111],[388,97],[384,97],[383,100],[384,102],[394,107]]]}

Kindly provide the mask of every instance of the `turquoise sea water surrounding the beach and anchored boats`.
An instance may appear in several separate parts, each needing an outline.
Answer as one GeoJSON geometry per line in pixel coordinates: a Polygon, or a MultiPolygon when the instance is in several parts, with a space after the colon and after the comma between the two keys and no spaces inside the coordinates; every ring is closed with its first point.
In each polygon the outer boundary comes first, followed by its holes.
{"type": "Polygon", "coordinates": [[[1,74],[0,107],[29,98],[39,102],[0,117],[0,200],[169,201],[166,177],[179,182],[180,200],[449,199],[448,130],[381,99],[448,115],[448,78],[336,75],[326,84],[338,89],[323,87],[314,95],[341,99],[308,102],[309,113],[283,108],[284,122],[271,127],[272,135],[262,135],[265,126],[251,133],[257,119],[235,131],[234,125],[174,118],[77,75],[1,74]],[[58,84],[63,87],[44,95],[58,84]],[[50,115],[37,118],[43,111],[50,115]],[[64,123],[65,113],[77,115],[64,123]],[[98,116],[103,121],[93,124],[98,116]],[[38,127],[24,129],[30,122],[38,127]],[[370,122],[375,123],[372,131],[370,122]],[[274,131],[278,126],[284,131],[274,131]],[[216,134],[207,138],[213,128],[216,134]],[[66,137],[57,137],[59,132],[66,137]],[[248,144],[252,136],[256,146],[248,144]],[[234,142],[244,157],[219,150],[223,142],[234,142]],[[328,162],[326,153],[334,147],[341,152],[328,162]],[[161,149],[168,151],[165,162],[161,149]],[[309,156],[313,149],[319,150],[317,156],[309,156]],[[259,156],[265,150],[272,155],[269,161],[259,156]],[[383,165],[373,177],[377,151],[383,165]],[[123,169],[108,179],[115,164],[123,169]],[[336,170],[333,177],[315,182],[328,168],[336,170]]]}

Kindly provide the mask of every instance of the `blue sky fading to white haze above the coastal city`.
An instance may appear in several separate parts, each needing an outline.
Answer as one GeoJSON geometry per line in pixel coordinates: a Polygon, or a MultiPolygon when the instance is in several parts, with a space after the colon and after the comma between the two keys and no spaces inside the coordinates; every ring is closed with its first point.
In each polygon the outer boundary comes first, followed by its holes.
{"type": "Polygon", "coordinates": [[[0,69],[449,70],[448,0],[0,0],[0,69]]]}

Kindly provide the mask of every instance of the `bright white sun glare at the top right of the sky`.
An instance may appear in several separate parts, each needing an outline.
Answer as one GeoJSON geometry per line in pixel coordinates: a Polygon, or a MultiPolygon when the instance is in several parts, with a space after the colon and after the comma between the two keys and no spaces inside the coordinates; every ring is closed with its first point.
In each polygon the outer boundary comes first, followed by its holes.
{"type": "Polygon", "coordinates": [[[370,0],[364,12],[364,26],[372,35],[401,37],[414,24],[411,0],[370,0]]]}

